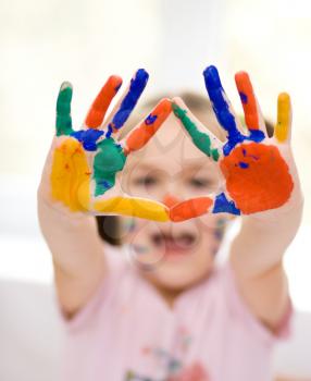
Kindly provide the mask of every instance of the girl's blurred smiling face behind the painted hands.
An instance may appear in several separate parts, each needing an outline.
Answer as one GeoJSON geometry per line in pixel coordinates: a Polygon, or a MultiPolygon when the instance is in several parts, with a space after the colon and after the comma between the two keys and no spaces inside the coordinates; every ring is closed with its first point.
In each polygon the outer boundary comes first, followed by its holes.
{"type": "MultiPolygon", "coordinates": [[[[215,122],[211,120],[210,128],[215,122]]],[[[216,133],[215,133],[216,134],[216,133]]],[[[217,165],[195,145],[172,114],[141,152],[128,157],[122,186],[135,197],[169,207],[214,193],[217,165]]],[[[156,285],[179,291],[207,276],[224,231],[224,214],[173,223],[122,218],[132,261],[156,285]]]]}

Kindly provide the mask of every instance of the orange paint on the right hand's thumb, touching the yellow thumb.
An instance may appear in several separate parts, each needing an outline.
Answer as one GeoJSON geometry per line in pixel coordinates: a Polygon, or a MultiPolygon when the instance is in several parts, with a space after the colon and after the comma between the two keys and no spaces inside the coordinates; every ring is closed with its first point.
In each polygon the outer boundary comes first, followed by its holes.
{"type": "Polygon", "coordinates": [[[179,202],[170,209],[170,219],[181,222],[206,214],[212,204],[213,200],[209,197],[198,197],[179,202]]]}

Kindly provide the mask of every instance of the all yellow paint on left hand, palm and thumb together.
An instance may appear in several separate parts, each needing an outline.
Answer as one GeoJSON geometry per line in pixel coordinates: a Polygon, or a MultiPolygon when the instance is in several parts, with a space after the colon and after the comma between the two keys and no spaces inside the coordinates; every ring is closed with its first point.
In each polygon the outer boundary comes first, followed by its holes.
{"type": "Polygon", "coordinates": [[[52,197],[72,211],[95,211],[169,221],[167,208],[141,198],[113,197],[90,202],[90,170],[86,152],[78,140],[66,138],[54,150],[51,188],[52,197]]]}

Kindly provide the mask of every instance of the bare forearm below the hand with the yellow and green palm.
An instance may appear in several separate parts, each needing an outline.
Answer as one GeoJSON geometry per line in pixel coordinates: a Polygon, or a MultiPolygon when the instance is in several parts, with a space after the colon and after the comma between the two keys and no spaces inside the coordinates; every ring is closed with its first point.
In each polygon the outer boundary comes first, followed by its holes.
{"type": "Polygon", "coordinates": [[[53,209],[38,196],[38,217],[52,254],[63,312],[73,316],[91,297],[107,272],[103,244],[91,216],[53,209]]]}

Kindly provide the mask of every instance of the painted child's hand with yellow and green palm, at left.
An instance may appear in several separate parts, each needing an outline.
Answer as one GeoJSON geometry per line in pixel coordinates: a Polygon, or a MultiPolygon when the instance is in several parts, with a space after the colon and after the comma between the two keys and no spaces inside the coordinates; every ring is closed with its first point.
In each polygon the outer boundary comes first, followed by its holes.
{"type": "Polygon", "coordinates": [[[121,127],[136,106],[148,81],[138,70],[129,88],[112,114],[105,112],[122,79],[111,76],[94,101],[79,131],[72,128],[72,86],[63,83],[57,103],[57,135],[43,169],[39,195],[52,205],[91,214],[126,214],[166,221],[167,208],[159,202],[127,197],[121,188],[121,174],[130,151],[140,149],[171,112],[163,99],[127,137],[117,140],[121,127]]]}

